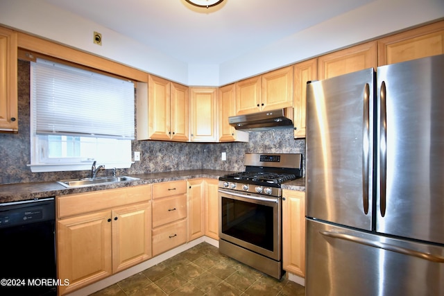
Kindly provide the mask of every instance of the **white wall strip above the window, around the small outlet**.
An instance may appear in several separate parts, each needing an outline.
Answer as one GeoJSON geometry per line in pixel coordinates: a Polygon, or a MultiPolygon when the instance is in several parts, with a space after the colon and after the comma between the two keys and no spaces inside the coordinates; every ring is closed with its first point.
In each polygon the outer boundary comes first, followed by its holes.
{"type": "Polygon", "coordinates": [[[39,0],[0,0],[0,24],[188,83],[188,65],[92,21],[39,0]],[[102,46],[92,32],[102,34],[102,46]]]}

